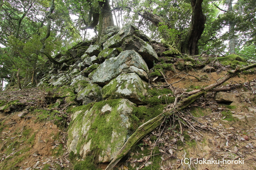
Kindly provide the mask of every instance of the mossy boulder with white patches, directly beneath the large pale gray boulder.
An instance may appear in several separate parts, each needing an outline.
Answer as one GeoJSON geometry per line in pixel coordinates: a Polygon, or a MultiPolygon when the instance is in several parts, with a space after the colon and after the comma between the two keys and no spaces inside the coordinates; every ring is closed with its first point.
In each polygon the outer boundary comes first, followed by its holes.
{"type": "Polygon", "coordinates": [[[137,74],[121,74],[102,88],[103,99],[126,98],[135,104],[144,104],[142,96],[146,93],[147,83],[137,74]]]}

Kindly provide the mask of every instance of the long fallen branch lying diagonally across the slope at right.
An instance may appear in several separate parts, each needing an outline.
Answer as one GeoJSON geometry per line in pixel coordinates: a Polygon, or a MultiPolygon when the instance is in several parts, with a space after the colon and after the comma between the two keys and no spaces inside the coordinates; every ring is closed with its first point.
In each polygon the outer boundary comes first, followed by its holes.
{"type": "MultiPolygon", "coordinates": [[[[211,84],[205,88],[202,88],[198,93],[189,96],[188,98],[180,101],[176,107],[166,108],[164,112],[153,119],[147,121],[146,123],[142,124],[138,129],[129,137],[129,139],[124,143],[123,147],[117,152],[116,156],[113,158],[113,160],[108,164],[105,170],[112,170],[114,166],[132,149],[136,143],[138,143],[144,136],[146,136],[148,133],[156,129],[156,127],[160,126],[162,124],[162,121],[164,121],[165,117],[170,117],[171,115],[174,115],[177,113],[177,111],[180,111],[186,107],[188,107],[190,104],[192,104],[196,99],[200,98],[206,92],[212,90],[214,87],[224,83],[228,79],[236,76],[239,74],[239,72],[248,70],[250,68],[255,68],[256,64],[251,64],[249,66],[236,69],[232,72],[229,72],[224,76],[223,78],[220,78],[217,82],[214,84],[211,84]]],[[[185,120],[185,119],[184,119],[185,120]]],[[[186,119],[187,120],[187,119],[186,119]]],[[[185,121],[186,121],[185,120],[185,121]]],[[[189,121],[186,121],[189,122],[189,121]]],[[[192,125],[191,125],[192,127],[192,125]]],[[[197,130],[196,130],[197,131],[197,130]]],[[[198,132],[199,133],[199,132],[198,132]]],[[[201,134],[200,134],[201,135],[201,134]]]]}

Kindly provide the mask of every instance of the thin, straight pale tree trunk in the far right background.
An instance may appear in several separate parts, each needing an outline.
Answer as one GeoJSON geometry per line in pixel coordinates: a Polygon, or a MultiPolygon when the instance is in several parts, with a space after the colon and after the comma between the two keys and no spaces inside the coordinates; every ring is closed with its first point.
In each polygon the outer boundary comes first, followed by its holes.
{"type": "MultiPolygon", "coordinates": [[[[232,8],[232,0],[227,0],[226,3],[228,4],[228,12],[233,13],[233,8],[232,8]]],[[[233,21],[229,21],[229,27],[228,27],[228,32],[229,32],[229,52],[230,53],[236,53],[235,51],[235,24],[233,21]]]]}

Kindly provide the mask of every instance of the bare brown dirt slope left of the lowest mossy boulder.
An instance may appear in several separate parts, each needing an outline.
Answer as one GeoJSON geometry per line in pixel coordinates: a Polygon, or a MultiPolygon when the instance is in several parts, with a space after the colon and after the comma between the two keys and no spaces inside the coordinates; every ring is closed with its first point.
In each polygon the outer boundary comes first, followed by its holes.
{"type": "MultiPolygon", "coordinates": [[[[67,156],[57,155],[59,145],[62,144],[62,138],[65,138],[66,134],[62,132],[63,129],[57,127],[52,121],[42,120],[37,121],[37,117],[28,113],[26,116],[32,117],[18,117],[18,113],[14,112],[10,115],[0,113],[0,119],[2,121],[1,127],[4,127],[1,131],[0,142],[0,156],[2,160],[5,160],[6,153],[8,153],[8,147],[6,144],[18,142],[19,145],[14,148],[13,152],[20,152],[15,156],[9,157],[9,162],[15,162],[21,159],[14,166],[25,169],[28,167],[34,167],[42,169],[45,164],[50,165],[52,168],[58,167],[60,160],[64,160],[65,167],[70,167],[69,161],[66,161],[67,156]],[[26,130],[30,130],[27,136],[24,136],[26,130]],[[32,143],[28,141],[34,135],[32,143]],[[13,138],[13,139],[12,139],[13,138]],[[28,149],[27,152],[22,152],[24,149],[28,149]],[[39,161],[39,162],[38,162],[39,161]],[[36,163],[38,163],[37,166],[36,163]]],[[[27,133],[26,133],[27,134],[27,133]]],[[[62,148],[60,148],[62,149],[62,148]]],[[[66,149],[62,149],[66,152],[66,149]]],[[[0,169],[5,169],[6,163],[2,161],[0,163],[0,169]]]]}

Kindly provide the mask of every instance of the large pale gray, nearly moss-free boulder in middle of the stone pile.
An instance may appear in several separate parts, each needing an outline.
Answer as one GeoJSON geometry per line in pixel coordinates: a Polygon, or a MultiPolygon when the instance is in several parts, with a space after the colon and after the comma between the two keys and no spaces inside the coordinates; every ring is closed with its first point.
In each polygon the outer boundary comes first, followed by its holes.
{"type": "Polygon", "coordinates": [[[142,57],[134,50],[127,50],[104,61],[100,66],[89,74],[92,82],[104,86],[120,74],[135,72],[144,80],[148,80],[148,66],[142,57]]]}

